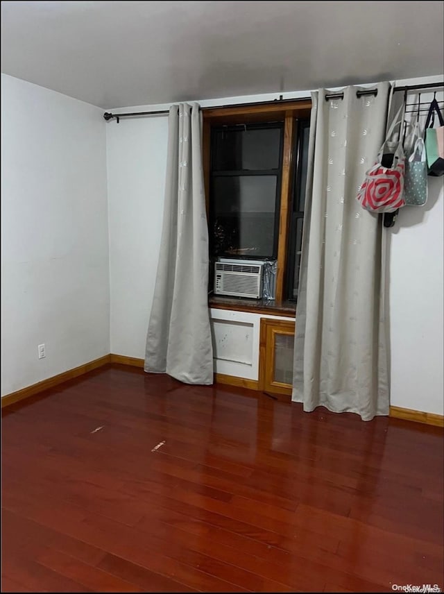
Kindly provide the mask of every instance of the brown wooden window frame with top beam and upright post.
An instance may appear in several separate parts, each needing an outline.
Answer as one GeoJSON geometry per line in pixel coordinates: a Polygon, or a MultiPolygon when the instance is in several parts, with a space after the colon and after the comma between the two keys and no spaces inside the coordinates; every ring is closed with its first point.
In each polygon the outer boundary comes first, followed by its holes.
{"type": "MultiPolygon", "coordinates": [[[[284,148],[282,159],[282,177],[280,192],[279,237],[278,237],[278,272],[276,276],[275,302],[284,300],[284,280],[287,271],[287,250],[289,243],[289,219],[291,190],[293,187],[294,139],[297,133],[298,119],[307,119],[311,112],[311,100],[257,105],[241,105],[226,108],[210,108],[203,110],[203,175],[205,183],[205,200],[209,214],[210,200],[210,158],[212,126],[266,123],[282,121],[284,123],[284,148]]],[[[246,304],[244,311],[248,309],[246,304]]]]}

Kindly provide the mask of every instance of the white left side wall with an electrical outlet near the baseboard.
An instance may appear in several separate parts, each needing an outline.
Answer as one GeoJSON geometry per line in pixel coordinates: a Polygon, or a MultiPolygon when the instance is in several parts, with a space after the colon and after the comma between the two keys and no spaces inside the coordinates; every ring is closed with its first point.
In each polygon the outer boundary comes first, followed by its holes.
{"type": "Polygon", "coordinates": [[[101,114],[1,75],[2,395],[110,352],[101,114]]]}

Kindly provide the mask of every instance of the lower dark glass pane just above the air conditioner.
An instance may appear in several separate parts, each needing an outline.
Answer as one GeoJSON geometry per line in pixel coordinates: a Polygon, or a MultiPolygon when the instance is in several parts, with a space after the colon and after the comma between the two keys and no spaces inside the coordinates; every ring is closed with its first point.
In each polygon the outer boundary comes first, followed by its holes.
{"type": "Polygon", "coordinates": [[[212,255],[275,257],[277,176],[215,176],[212,255]]]}

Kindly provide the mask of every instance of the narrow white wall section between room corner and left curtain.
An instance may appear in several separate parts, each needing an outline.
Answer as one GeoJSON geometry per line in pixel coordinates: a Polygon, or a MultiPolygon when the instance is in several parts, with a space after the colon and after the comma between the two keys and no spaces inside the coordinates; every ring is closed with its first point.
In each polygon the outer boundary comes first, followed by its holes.
{"type": "Polygon", "coordinates": [[[111,352],[145,356],[162,230],[167,117],[110,121],[111,352]]]}

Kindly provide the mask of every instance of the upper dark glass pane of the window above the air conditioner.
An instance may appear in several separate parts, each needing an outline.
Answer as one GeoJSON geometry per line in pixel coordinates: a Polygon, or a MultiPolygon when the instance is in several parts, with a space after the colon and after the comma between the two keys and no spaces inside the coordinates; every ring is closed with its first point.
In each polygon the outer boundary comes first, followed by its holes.
{"type": "Polygon", "coordinates": [[[213,171],[278,169],[282,128],[215,132],[213,171]]]}

